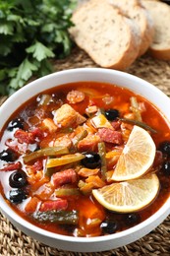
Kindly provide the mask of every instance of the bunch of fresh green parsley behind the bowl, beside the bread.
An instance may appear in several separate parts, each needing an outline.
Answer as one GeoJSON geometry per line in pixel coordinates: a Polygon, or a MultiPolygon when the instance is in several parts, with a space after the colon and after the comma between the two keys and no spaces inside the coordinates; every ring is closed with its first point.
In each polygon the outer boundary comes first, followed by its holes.
{"type": "Polygon", "coordinates": [[[52,72],[50,59],[71,52],[76,0],[0,0],[0,95],[52,72]]]}

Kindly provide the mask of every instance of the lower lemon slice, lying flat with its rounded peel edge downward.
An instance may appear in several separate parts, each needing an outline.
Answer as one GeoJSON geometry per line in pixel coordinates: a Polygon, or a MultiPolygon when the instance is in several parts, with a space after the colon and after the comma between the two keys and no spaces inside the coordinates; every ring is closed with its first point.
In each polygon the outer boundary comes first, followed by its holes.
{"type": "Polygon", "coordinates": [[[139,179],[93,189],[92,194],[108,210],[132,213],[147,206],[156,197],[158,190],[159,180],[156,174],[146,174],[139,179]]]}

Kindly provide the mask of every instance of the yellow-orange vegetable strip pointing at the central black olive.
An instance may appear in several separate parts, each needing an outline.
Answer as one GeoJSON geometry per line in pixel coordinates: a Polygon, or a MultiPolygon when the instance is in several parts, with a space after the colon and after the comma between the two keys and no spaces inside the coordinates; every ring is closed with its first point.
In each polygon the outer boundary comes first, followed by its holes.
{"type": "Polygon", "coordinates": [[[75,162],[83,159],[85,159],[85,155],[76,153],[74,155],[67,155],[61,158],[49,159],[47,160],[46,166],[47,168],[50,168],[50,167],[60,166],[60,165],[64,165],[67,163],[71,163],[71,162],[75,162]]]}

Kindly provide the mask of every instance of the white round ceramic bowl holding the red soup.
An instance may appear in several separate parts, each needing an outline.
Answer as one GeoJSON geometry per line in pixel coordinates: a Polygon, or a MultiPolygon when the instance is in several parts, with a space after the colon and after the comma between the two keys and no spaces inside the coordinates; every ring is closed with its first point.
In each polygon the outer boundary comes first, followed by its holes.
{"type": "MultiPolygon", "coordinates": [[[[156,105],[170,122],[170,99],[154,86],[127,73],[99,68],[83,68],[45,76],[31,82],[28,86],[9,97],[0,108],[0,129],[2,129],[11,114],[31,96],[58,85],[79,81],[106,82],[128,88],[156,105]]],[[[29,224],[12,211],[1,195],[0,209],[12,224],[44,244],[68,251],[100,252],[134,242],[150,232],[158,224],[161,224],[170,214],[170,198],[154,215],[141,224],[118,233],[89,238],[60,235],[29,224]]]]}

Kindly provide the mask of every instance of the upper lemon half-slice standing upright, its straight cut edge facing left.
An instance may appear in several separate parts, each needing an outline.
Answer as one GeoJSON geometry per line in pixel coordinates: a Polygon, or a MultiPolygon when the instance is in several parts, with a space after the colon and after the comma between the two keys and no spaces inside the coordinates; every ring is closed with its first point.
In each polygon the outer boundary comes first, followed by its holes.
{"type": "Polygon", "coordinates": [[[156,147],[149,133],[135,125],[111,179],[123,181],[142,176],[153,163],[155,152],[156,147]]]}

